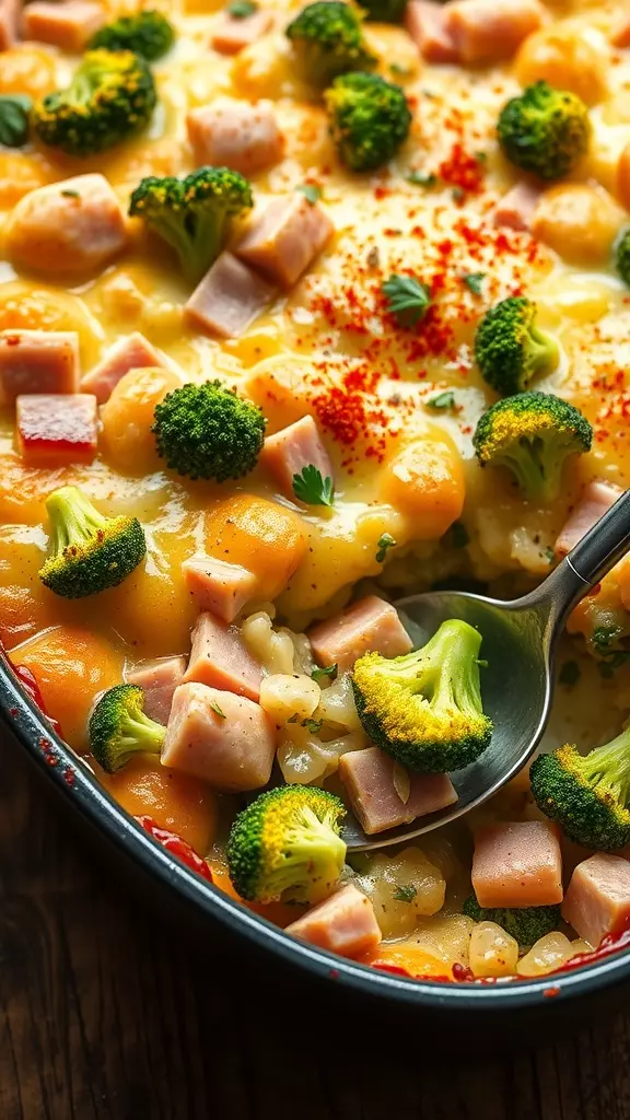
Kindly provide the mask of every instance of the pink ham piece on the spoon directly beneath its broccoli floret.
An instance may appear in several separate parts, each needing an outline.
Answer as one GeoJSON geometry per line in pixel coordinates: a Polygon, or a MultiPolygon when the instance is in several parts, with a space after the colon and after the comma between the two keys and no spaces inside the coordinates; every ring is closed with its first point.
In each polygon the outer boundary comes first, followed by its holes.
{"type": "Polygon", "coordinates": [[[378,747],[350,750],[340,758],[339,776],[368,836],[409,824],[457,800],[447,774],[409,774],[409,796],[402,801],[393,775],[393,758],[378,747]]]}

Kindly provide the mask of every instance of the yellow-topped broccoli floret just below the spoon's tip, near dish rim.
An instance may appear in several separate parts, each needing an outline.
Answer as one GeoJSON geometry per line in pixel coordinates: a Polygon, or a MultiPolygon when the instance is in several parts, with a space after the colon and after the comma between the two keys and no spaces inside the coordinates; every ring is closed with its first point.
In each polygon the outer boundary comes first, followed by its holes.
{"type": "Polygon", "coordinates": [[[251,902],[317,903],[345,859],[339,797],[306,785],[261,793],[237,816],[228,841],[230,878],[251,902]]]}

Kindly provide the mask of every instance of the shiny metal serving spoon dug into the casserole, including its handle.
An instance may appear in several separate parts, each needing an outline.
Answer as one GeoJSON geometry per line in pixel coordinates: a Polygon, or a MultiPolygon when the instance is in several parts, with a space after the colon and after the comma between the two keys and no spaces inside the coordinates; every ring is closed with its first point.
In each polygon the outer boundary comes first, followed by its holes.
{"type": "Polygon", "coordinates": [[[463,618],[482,635],[484,711],[494,721],[490,747],[452,774],[458,801],[410,824],[367,836],[354,818],[344,829],[349,848],[369,850],[410,840],[483,804],[518,774],[545,730],[553,698],[557,638],[567,615],[630,549],[630,491],[575,545],[535,591],[502,603],[465,591],[429,591],[395,604],[421,646],[448,618],[463,618]]]}

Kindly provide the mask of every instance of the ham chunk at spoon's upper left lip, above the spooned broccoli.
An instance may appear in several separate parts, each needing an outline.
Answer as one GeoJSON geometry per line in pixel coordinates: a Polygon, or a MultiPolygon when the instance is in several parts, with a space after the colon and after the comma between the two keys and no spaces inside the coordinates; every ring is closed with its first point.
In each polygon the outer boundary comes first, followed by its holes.
{"type": "Polygon", "coordinates": [[[378,595],[367,595],[342,615],[318,623],[308,637],[319,664],[336,665],[340,674],[364,653],[398,657],[413,648],[396,608],[378,595]]]}

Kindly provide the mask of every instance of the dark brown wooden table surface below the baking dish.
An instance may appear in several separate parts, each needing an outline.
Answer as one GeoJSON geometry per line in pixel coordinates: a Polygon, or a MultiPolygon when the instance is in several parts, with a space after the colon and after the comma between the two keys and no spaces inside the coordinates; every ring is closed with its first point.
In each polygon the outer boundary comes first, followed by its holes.
{"type": "Polygon", "coordinates": [[[300,1042],[297,996],[231,999],[212,943],[108,881],[12,744],[0,774],[0,1120],[630,1120],[630,1015],[473,1062],[420,1036],[351,1060],[334,1021],[300,1042]]]}

